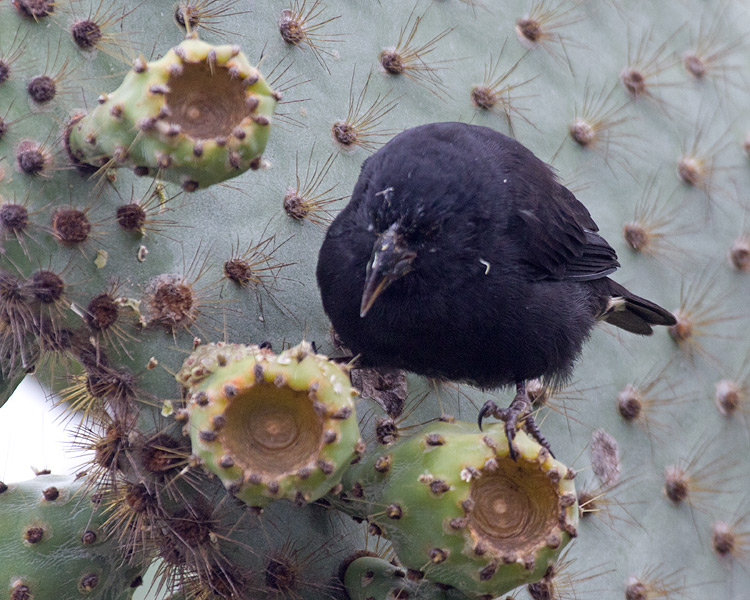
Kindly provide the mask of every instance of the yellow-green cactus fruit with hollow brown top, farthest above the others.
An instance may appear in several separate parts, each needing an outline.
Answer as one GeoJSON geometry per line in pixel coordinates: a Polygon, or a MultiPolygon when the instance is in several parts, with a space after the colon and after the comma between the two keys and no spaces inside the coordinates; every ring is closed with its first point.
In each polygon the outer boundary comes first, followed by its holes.
{"type": "Polygon", "coordinates": [[[188,38],[137,58],[122,85],[68,125],[84,170],[132,167],[195,191],[261,165],[278,95],[239,46],[188,38]]]}

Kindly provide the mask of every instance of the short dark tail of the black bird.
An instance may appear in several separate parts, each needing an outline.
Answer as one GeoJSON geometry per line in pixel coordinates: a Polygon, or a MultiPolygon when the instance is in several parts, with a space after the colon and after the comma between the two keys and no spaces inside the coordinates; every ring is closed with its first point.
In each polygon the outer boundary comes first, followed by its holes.
{"type": "Polygon", "coordinates": [[[636,296],[619,283],[609,278],[606,282],[608,300],[598,315],[598,319],[615,327],[640,335],[651,335],[652,325],[675,325],[674,315],[650,300],[636,296]]]}

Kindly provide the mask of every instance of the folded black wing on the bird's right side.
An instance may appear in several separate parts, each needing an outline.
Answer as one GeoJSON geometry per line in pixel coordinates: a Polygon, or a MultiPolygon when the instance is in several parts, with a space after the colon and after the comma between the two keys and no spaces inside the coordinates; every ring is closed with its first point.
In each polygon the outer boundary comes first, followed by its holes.
{"type": "Polygon", "coordinates": [[[614,272],[620,266],[617,254],[597,233],[589,211],[556,181],[553,189],[543,197],[534,190],[521,195],[513,223],[526,248],[523,260],[532,278],[587,281],[614,272]]]}

